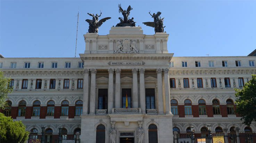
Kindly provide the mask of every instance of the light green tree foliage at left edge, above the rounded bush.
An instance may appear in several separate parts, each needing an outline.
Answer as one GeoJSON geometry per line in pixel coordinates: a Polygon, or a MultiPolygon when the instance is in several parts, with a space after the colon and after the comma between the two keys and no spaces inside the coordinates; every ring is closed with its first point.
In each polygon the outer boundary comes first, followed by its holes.
{"type": "Polygon", "coordinates": [[[0,108],[4,108],[6,106],[6,98],[8,93],[13,91],[13,88],[9,87],[10,78],[6,78],[3,76],[3,72],[0,71],[0,108]]]}

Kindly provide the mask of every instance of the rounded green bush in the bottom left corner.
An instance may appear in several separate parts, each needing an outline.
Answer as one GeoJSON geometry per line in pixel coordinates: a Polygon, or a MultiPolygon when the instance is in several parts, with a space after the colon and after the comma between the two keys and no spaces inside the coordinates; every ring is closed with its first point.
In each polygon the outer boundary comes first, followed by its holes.
{"type": "Polygon", "coordinates": [[[21,121],[13,121],[0,113],[0,141],[1,143],[25,143],[29,132],[21,121]]]}

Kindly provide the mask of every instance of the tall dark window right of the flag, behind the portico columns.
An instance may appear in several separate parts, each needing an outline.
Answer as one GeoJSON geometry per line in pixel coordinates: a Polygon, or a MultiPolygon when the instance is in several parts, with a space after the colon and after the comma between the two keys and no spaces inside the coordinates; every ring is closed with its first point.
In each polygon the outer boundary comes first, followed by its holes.
{"type": "Polygon", "coordinates": [[[155,88],[146,88],[146,109],[156,109],[155,107],[155,88]]]}

